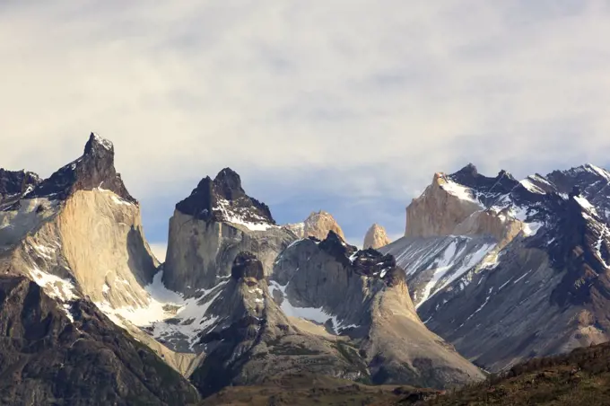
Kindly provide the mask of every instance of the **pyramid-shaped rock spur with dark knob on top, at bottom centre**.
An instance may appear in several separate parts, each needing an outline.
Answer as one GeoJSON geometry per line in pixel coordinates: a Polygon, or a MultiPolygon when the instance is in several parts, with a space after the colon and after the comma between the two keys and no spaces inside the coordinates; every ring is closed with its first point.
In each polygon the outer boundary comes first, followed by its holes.
{"type": "Polygon", "coordinates": [[[269,295],[262,269],[255,255],[240,252],[222,294],[210,304],[222,322],[201,337],[206,355],[191,375],[199,391],[206,396],[230,384],[301,374],[367,378],[358,352],[344,340],[301,331],[286,317],[269,295]]]}

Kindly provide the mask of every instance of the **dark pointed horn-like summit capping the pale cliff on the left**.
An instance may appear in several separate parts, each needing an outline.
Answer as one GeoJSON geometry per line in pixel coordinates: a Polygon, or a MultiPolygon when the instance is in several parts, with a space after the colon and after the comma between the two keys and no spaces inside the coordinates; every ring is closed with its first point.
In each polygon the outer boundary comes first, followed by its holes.
{"type": "Polygon", "coordinates": [[[112,143],[91,133],[80,158],[39,182],[24,197],[63,200],[76,190],[101,189],[111,190],[122,199],[137,204],[137,200],[126,190],[120,174],[115,169],[114,156],[112,143]]]}

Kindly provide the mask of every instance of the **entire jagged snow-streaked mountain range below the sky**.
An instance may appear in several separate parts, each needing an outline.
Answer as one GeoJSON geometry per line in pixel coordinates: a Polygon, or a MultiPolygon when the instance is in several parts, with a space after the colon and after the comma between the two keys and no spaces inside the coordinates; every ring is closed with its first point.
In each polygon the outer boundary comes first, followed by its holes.
{"type": "Polygon", "coordinates": [[[0,169],[3,404],[198,404],[302,376],[443,390],[608,340],[597,166],[436,173],[405,236],[372,225],[363,250],[323,210],[278,225],[225,168],[176,204],[160,263],[114,154],[91,134],[48,179],[0,169]]]}

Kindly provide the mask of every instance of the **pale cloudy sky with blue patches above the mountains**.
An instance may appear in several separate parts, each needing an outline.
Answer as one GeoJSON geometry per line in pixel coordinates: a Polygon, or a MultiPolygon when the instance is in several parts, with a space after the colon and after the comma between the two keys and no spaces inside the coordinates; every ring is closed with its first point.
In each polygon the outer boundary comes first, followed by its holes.
{"type": "Polygon", "coordinates": [[[610,166],[610,1],[0,2],[0,167],[111,139],[146,234],[230,166],[280,223],[351,243],[468,162],[610,166]]]}

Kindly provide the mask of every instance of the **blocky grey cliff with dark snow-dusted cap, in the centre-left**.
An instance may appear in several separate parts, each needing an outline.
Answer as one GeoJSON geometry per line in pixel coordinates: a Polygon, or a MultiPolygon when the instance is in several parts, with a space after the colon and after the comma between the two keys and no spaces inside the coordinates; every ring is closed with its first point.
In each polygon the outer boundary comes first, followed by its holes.
{"type": "Polygon", "coordinates": [[[163,283],[171,290],[194,294],[231,275],[240,252],[254,252],[266,275],[277,255],[296,235],[275,225],[269,207],[248,197],[240,175],[223,169],[212,181],[200,181],[176,205],[170,219],[163,283]]]}

